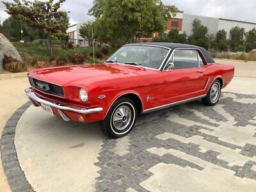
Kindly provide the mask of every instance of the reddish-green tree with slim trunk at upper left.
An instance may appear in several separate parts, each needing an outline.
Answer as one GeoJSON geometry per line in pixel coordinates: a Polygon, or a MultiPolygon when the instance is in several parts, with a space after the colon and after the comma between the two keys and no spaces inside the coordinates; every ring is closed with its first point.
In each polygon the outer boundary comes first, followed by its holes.
{"type": "Polygon", "coordinates": [[[21,19],[29,27],[42,31],[45,45],[52,56],[52,41],[67,38],[67,12],[60,11],[65,0],[27,1],[13,0],[14,3],[3,1],[6,12],[15,19],[21,19]],[[47,40],[48,41],[47,41],[47,40]]]}

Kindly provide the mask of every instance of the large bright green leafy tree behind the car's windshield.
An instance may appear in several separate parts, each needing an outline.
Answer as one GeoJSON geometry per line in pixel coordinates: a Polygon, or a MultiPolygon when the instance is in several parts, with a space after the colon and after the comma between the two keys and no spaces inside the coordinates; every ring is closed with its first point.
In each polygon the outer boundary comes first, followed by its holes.
{"type": "Polygon", "coordinates": [[[168,18],[176,13],[175,6],[164,5],[161,0],[95,0],[89,11],[96,19],[99,38],[117,39],[120,44],[132,42],[138,33],[161,33],[168,18]]]}

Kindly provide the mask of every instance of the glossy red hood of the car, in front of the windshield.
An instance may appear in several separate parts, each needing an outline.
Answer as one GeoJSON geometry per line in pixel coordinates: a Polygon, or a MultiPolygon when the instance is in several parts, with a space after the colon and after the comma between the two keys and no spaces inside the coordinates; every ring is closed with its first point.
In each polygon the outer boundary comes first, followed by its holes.
{"type": "MultiPolygon", "coordinates": [[[[140,67],[129,65],[116,65],[105,63],[104,65],[72,65],[65,67],[37,68],[29,72],[29,77],[49,83],[69,86],[81,81],[86,84],[92,81],[100,81],[122,76],[138,75],[144,70],[140,67]]],[[[84,84],[84,83],[83,83],[84,84]]]]}

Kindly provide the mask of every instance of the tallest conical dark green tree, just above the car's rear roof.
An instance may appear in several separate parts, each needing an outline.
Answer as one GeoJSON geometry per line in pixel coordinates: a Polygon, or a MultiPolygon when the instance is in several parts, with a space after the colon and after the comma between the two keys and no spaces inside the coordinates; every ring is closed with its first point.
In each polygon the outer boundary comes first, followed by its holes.
{"type": "Polygon", "coordinates": [[[204,26],[199,19],[195,19],[193,22],[193,34],[188,37],[189,44],[198,45],[205,49],[210,48],[211,42],[209,42],[210,35],[208,34],[208,28],[204,26]]]}

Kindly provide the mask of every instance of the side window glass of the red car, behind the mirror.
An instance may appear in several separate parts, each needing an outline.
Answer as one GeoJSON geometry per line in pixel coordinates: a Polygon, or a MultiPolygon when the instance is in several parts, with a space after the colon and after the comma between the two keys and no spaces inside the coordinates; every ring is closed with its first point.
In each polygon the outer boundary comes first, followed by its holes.
{"type": "Polygon", "coordinates": [[[204,62],[196,50],[175,50],[173,52],[174,70],[203,67],[204,62]]]}

